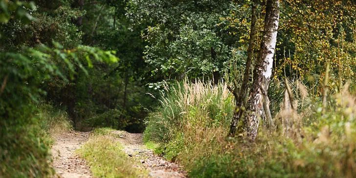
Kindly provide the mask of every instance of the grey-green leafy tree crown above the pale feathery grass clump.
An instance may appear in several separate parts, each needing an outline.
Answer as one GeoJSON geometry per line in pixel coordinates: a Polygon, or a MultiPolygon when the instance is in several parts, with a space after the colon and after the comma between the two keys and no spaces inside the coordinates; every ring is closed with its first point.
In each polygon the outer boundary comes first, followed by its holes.
{"type": "Polygon", "coordinates": [[[134,22],[154,23],[143,34],[149,43],[144,58],[152,74],[200,77],[223,71],[231,47],[218,23],[229,10],[228,1],[131,0],[129,7],[134,22]]]}

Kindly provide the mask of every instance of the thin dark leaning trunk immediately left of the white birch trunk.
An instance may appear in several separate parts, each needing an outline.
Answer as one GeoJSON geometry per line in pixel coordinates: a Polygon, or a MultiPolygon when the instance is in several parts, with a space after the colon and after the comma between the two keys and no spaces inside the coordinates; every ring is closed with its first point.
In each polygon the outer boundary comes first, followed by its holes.
{"type": "Polygon", "coordinates": [[[250,75],[250,68],[251,68],[251,63],[253,58],[253,49],[255,48],[256,21],[257,21],[256,6],[257,6],[257,0],[253,0],[252,10],[251,10],[250,39],[248,42],[245,74],[241,85],[241,89],[239,92],[236,85],[234,90],[230,89],[233,93],[235,93],[234,95],[236,99],[236,109],[234,111],[234,115],[232,117],[232,121],[230,125],[230,134],[232,135],[236,133],[237,124],[239,123],[241,116],[244,113],[243,107],[245,106],[245,98],[248,89],[248,79],[250,75]],[[237,95],[237,93],[239,93],[240,95],[237,95]]]}

